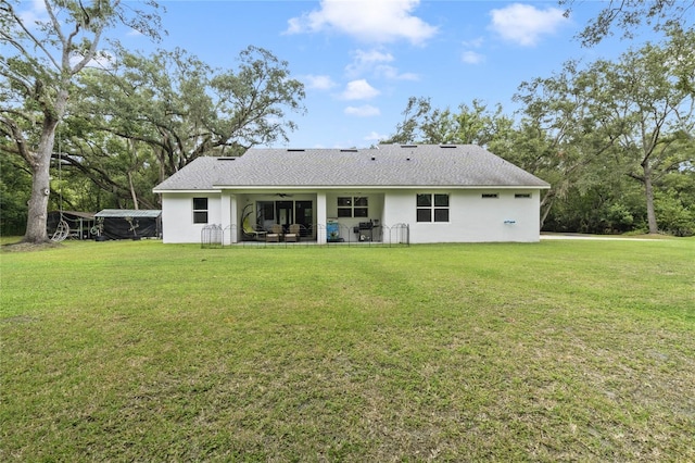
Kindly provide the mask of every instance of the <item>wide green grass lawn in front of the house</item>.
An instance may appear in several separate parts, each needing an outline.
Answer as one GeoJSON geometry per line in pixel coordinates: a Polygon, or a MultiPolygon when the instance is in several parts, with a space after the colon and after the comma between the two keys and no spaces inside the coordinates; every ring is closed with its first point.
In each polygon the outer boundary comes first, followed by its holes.
{"type": "Polygon", "coordinates": [[[2,252],[2,461],[695,461],[695,240],[2,252]]]}

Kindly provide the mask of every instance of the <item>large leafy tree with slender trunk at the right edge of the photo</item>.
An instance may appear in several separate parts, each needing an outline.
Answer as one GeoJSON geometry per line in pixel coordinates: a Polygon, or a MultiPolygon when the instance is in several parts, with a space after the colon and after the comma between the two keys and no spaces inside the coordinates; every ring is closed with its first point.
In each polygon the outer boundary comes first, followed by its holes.
{"type": "Polygon", "coordinates": [[[582,173],[584,182],[627,175],[642,184],[649,233],[659,230],[655,183],[694,161],[693,50],[695,33],[674,28],[664,45],[583,68],[568,63],[558,75],[523,83],[517,95],[526,115],[563,141],[558,166],[571,167],[567,174],[582,173]]]}

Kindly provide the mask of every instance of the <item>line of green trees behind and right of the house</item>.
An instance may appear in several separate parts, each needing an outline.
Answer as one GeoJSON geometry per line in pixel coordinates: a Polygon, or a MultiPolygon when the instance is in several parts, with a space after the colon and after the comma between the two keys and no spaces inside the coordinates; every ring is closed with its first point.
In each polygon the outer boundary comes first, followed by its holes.
{"type": "Polygon", "coordinates": [[[412,98],[387,142],[475,143],[551,183],[554,232],[695,234],[695,32],[525,82],[505,114],[412,98]]]}

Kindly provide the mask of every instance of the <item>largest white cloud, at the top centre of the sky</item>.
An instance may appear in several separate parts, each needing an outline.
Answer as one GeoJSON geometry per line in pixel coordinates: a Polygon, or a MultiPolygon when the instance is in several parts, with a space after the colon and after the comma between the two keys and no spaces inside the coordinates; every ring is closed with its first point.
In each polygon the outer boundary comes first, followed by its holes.
{"type": "Polygon", "coordinates": [[[288,21],[287,34],[334,30],[358,40],[421,45],[437,27],[412,13],[420,0],[321,0],[319,10],[288,21]]]}

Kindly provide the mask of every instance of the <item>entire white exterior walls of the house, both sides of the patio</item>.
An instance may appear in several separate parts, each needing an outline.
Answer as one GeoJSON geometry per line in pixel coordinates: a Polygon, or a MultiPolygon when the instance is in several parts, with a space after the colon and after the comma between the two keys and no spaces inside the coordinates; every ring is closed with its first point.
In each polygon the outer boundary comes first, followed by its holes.
{"type": "MultiPolygon", "coordinates": [[[[219,192],[181,192],[162,195],[162,240],[165,243],[201,240],[202,228],[206,224],[193,224],[193,197],[207,198],[208,224],[223,227],[239,225],[239,214],[248,201],[243,195],[219,192]],[[231,224],[229,223],[231,221],[231,224]]],[[[326,218],[336,217],[337,198],[344,193],[317,193],[315,214],[318,226],[319,243],[326,242],[326,218]]],[[[356,195],[354,195],[356,196],[356,195]]],[[[529,189],[490,189],[490,190],[391,190],[386,193],[361,195],[369,197],[369,217],[340,218],[344,227],[352,227],[368,218],[380,218],[387,227],[396,224],[409,225],[412,243],[428,242],[484,242],[517,241],[536,242],[540,239],[540,190],[529,189]],[[416,196],[422,193],[448,193],[448,222],[417,222],[416,196]],[[482,193],[496,193],[497,198],[482,198],[482,193]],[[515,193],[531,193],[531,198],[515,198],[515,193]]],[[[351,228],[348,233],[351,233],[351,228]]],[[[235,236],[226,237],[235,242],[235,236]]],[[[348,237],[344,237],[348,240],[348,237]]],[[[354,239],[354,237],[351,237],[354,239]]],[[[388,239],[386,236],[383,239],[388,239]]]]}

